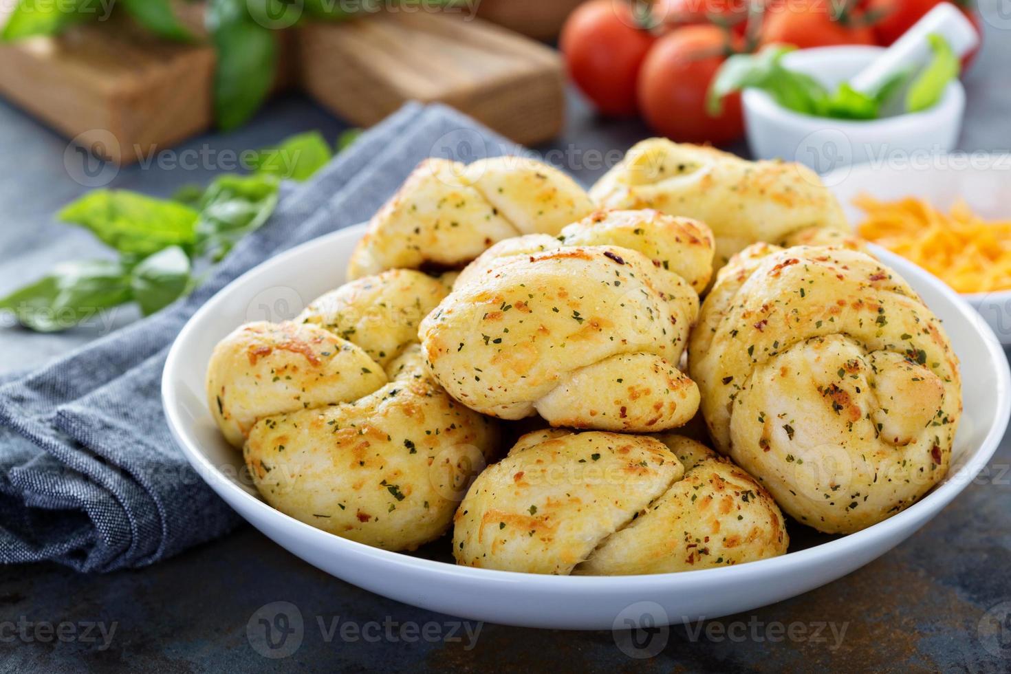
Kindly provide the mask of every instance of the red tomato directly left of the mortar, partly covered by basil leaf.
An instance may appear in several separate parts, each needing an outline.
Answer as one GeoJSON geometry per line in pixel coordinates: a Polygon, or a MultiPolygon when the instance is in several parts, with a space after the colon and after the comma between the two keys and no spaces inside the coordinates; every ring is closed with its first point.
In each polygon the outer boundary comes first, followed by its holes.
{"type": "Polygon", "coordinates": [[[739,94],[724,99],[719,117],[706,112],[709,83],[729,52],[726,31],[715,25],[684,26],[657,40],[638,87],[639,109],[653,130],[687,142],[729,142],[744,134],[739,94]]]}

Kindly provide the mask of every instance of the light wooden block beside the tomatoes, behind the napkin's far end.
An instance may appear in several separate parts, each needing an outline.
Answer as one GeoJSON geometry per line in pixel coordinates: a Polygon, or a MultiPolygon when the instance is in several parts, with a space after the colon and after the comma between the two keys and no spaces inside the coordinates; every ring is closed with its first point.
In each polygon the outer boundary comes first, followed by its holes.
{"type": "Polygon", "coordinates": [[[552,50],[480,19],[389,12],[299,28],[302,86],[369,126],[408,100],[441,101],[533,145],[564,121],[564,77],[552,50]]]}

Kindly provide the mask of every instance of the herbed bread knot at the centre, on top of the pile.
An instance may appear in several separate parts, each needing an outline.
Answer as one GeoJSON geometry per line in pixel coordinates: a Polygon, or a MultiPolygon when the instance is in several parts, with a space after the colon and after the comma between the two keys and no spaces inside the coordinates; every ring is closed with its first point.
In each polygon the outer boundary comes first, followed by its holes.
{"type": "Polygon", "coordinates": [[[699,235],[665,242],[666,257],[653,259],[660,236],[651,230],[688,224],[646,211],[635,234],[634,218],[594,214],[557,238],[505,240],[475,260],[422,322],[435,378],[507,419],[539,412],[552,425],[658,431],[692,418],[698,391],[676,364],[699,300],[678,273],[708,266],[710,238],[693,222],[699,235]],[[612,219],[620,226],[602,226],[612,219]],[[605,243],[612,237],[646,253],[605,243]]]}

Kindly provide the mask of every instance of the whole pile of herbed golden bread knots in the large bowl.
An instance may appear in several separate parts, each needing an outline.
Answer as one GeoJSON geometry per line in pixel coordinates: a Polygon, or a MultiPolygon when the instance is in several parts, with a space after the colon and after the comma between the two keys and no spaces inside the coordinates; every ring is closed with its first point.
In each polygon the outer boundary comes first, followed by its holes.
{"type": "Polygon", "coordinates": [[[797,165],[654,138],[586,193],[526,158],[429,160],[348,277],[207,368],[263,498],[338,536],[666,573],[785,554],[784,512],[859,531],[947,471],[940,322],[797,165]],[[541,429],[499,447],[521,419],[541,429]]]}

